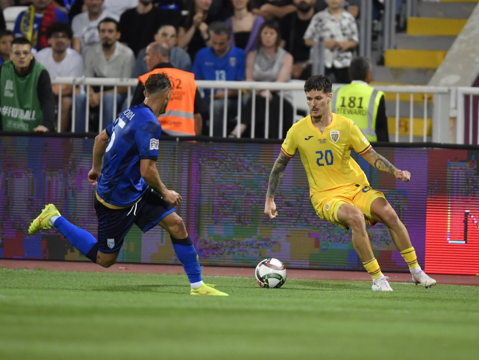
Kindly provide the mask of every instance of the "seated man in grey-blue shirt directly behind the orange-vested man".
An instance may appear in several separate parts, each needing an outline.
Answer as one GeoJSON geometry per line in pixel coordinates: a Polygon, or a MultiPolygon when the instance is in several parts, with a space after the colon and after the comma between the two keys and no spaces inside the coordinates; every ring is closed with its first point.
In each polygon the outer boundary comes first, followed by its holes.
{"type": "MultiPolygon", "coordinates": [[[[177,69],[191,71],[191,58],[188,52],[177,46],[178,37],[176,28],[172,25],[161,26],[155,34],[155,41],[166,42],[170,47],[170,62],[177,69]]],[[[146,47],[138,52],[135,68],[133,69],[133,77],[146,74],[148,66],[144,60],[146,55],[146,47]]]]}

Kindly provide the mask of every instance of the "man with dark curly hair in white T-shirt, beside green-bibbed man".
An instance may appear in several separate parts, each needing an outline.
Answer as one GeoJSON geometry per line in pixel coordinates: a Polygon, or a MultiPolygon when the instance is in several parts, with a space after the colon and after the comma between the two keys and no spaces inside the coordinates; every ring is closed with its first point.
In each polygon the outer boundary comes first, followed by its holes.
{"type": "MultiPolygon", "coordinates": [[[[50,78],[55,77],[80,77],[83,74],[83,58],[69,48],[72,38],[70,25],[63,22],[54,22],[46,30],[48,44],[35,55],[36,60],[42,64],[50,78]]],[[[60,131],[68,131],[70,126],[70,107],[72,85],[61,85],[61,115],[60,131]]],[[[52,90],[55,97],[55,106],[58,104],[60,85],[53,84],[52,90]]]]}

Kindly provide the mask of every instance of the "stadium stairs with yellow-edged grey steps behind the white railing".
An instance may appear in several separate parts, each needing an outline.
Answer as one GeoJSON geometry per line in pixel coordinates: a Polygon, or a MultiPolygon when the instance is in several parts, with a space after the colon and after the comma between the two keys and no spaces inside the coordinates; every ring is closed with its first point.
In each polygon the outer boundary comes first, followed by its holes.
{"type": "MultiPolygon", "coordinates": [[[[396,33],[394,49],[384,51],[384,66],[375,66],[371,85],[427,85],[479,0],[419,1],[417,17],[409,17],[406,32],[396,33]]],[[[409,134],[410,95],[400,94],[399,133],[409,134]]],[[[432,114],[428,95],[428,116],[432,114]]],[[[396,94],[386,93],[390,137],[395,135],[396,94]]],[[[413,135],[423,136],[424,95],[414,94],[413,135]]],[[[427,119],[431,136],[432,119],[427,119]]]]}

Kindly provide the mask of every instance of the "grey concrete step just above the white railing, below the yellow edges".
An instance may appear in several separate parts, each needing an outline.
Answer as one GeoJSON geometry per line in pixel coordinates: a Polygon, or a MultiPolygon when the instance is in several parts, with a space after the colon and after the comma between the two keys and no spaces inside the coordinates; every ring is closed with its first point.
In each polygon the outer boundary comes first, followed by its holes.
{"type": "Polygon", "coordinates": [[[426,85],[435,69],[390,68],[373,66],[373,81],[398,84],[426,85]]]}

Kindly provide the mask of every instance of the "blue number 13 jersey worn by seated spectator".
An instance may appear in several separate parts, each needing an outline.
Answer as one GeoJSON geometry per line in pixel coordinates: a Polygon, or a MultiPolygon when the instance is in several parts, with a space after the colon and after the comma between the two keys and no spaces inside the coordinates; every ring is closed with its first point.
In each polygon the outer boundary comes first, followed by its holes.
{"type": "Polygon", "coordinates": [[[246,78],[245,68],[246,54],[239,47],[232,46],[223,57],[218,57],[211,47],[204,47],[196,54],[192,72],[197,80],[242,81],[246,78]]]}

